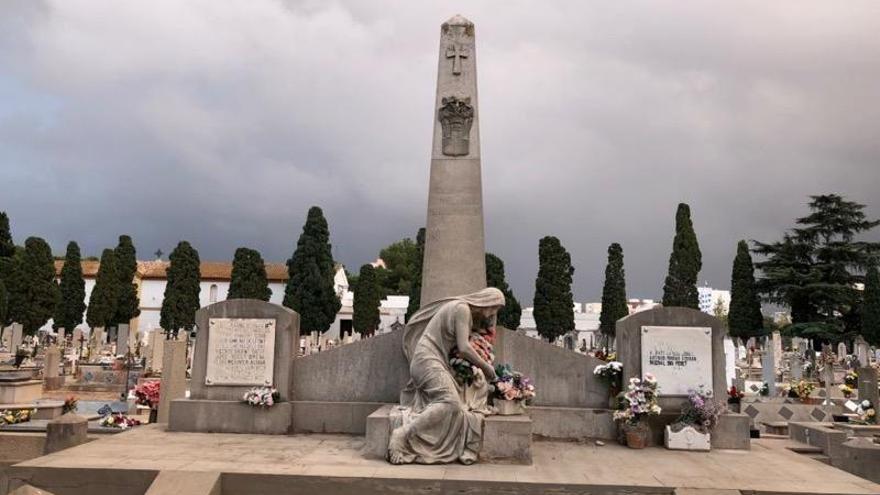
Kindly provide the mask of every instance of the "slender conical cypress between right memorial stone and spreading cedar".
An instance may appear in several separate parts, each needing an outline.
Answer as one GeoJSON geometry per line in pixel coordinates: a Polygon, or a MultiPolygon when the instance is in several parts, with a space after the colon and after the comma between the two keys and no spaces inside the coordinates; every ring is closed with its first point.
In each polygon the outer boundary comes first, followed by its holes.
{"type": "Polygon", "coordinates": [[[764,335],[761,298],[755,285],[755,269],[746,241],[739,241],[730,276],[730,311],[727,326],[731,337],[743,342],[764,335]]]}

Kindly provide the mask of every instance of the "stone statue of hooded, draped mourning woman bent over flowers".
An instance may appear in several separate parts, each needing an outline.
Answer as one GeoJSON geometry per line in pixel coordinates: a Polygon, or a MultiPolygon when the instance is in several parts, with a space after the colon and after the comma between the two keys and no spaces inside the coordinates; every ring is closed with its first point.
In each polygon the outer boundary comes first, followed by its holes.
{"type": "Polygon", "coordinates": [[[472,337],[492,335],[504,306],[500,290],[432,302],[415,313],[403,335],[410,381],[391,412],[388,460],[393,464],[440,464],[477,461],[483,419],[495,370],[473,349],[472,337]],[[458,353],[474,367],[470,384],[459,384],[449,363],[458,353]]]}

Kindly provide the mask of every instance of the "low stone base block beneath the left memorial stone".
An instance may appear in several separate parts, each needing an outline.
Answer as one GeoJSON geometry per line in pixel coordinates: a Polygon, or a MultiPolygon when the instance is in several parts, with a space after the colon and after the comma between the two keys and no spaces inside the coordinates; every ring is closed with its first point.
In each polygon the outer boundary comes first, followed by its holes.
{"type": "Polygon", "coordinates": [[[269,408],[238,401],[176,399],[171,401],[168,429],[198,433],[286,435],[292,417],[290,402],[269,408]]]}

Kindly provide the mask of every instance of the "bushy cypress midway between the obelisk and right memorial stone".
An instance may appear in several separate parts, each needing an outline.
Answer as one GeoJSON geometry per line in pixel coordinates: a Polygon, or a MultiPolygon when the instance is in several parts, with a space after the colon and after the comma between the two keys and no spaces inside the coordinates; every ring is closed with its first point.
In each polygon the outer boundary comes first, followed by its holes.
{"type": "Polygon", "coordinates": [[[538,244],[538,277],[535,279],[535,324],[548,342],[574,330],[574,297],[571,256],[559,239],[547,236],[538,244]]]}

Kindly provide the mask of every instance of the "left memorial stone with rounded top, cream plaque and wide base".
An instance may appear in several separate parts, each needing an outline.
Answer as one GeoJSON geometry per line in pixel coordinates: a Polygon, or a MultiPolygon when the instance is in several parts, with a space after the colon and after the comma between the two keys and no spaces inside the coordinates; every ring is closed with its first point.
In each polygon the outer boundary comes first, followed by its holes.
{"type": "Polygon", "coordinates": [[[232,299],[196,313],[190,397],[171,402],[172,431],[286,434],[291,429],[291,368],[299,315],[256,299],[232,299]],[[274,389],[271,406],[243,400],[274,389]]]}

